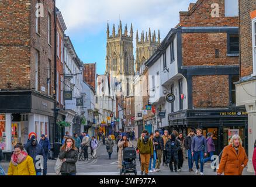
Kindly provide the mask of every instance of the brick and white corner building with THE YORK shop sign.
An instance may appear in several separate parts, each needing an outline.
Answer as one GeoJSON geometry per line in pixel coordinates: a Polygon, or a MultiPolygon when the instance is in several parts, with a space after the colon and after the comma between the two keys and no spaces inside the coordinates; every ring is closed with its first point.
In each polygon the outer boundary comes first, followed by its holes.
{"type": "Polygon", "coordinates": [[[234,85],[239,79],[238,1],[198,0],[179,16],[161,50],[146,62],[154,75],[148,88],[157,126],[184,134],[191,128],[203,129],[204,136],[211,132],[217,153],[236,132],[247,148],[247,113],[236,106],[234,85]],[[174,101],[167,102],[168,93],[174,101]]]}

